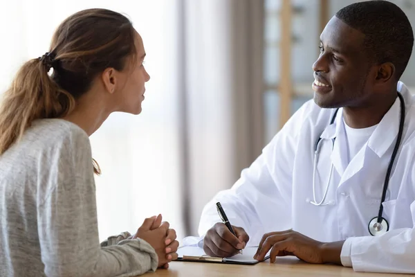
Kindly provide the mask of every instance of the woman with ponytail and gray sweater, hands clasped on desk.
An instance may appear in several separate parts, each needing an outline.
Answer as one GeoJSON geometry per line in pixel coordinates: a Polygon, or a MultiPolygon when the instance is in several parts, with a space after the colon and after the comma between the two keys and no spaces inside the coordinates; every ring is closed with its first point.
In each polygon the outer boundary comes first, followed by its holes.
{"type": "Polygon", "coordinates": [[[98,242],[89,136],[113,111],[140,114],[144,57],[129,19],[83,10],[17,73],[0,108],[0,276],[136,276],[177,258],[160,216],[98,242]]]}

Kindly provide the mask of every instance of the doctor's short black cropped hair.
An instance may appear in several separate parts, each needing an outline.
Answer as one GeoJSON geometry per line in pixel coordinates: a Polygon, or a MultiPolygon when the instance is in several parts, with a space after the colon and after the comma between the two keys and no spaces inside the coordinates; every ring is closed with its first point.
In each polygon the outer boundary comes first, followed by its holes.
{"type": "Polygon", "coordinates": [[[365,34],[365,49],[371,62],[391,62],[399,80],[411,57],[414,33],[405,12],[388,1],[353,3],[335,17],[365,34]]]}

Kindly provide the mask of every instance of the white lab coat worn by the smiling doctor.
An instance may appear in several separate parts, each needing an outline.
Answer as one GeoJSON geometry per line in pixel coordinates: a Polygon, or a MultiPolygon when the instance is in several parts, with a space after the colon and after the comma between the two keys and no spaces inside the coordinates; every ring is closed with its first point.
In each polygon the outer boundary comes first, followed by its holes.
{"type": "Polygon", "coordinates": [[[264,233],[292,228],[321,242],[346,240],[342,262],[355,271],[415,273],[415,98],[402,82],[398,83],[398,91],[405,99],[406,115],[403,139],[382,204],[389,232],[373,237],[368,224],[378,215],[398,134],[399,98],[349,164],[342,109],[335,123],[329,125],[333,109],[321,109],[313,100],[306,102],[261,156],[241,172],[236,184],[205,206],[199,235],[220,222],[215,207],[219,201],[231,224],[242,226],[250,235],[251,245],[259,244],[264,233]],[[320,134],[317,202],[322,199],[333,163],[326,206],[310,203],[315,142],[320,134]]]}

